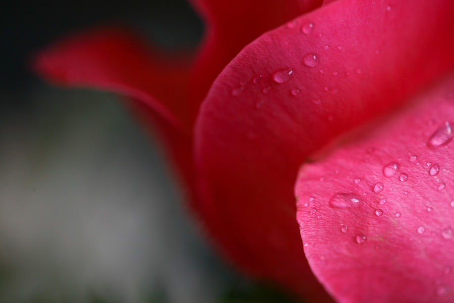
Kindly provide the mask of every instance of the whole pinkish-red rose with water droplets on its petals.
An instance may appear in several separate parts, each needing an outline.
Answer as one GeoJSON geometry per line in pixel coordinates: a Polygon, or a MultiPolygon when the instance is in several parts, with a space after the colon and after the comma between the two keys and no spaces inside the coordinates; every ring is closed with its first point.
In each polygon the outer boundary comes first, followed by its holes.
{"type": "Polygon", "coordinates": [[[140,100],[205,227],[247,272],[327,300],[309,261],[339,302],[451,301],[453,84],[441,79],[454,3],[339,0],[305,15],[319,3],[195,4],[210,30],[190,71],[112,30],[50,48],[37,70],[140,100]],[[317,150],[295,189],[303,245],[292,188],[317,150]]]}

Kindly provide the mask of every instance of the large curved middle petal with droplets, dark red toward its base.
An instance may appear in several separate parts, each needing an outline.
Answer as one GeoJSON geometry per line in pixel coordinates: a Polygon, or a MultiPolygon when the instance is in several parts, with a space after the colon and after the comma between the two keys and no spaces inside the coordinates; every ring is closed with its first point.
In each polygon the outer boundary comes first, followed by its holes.
{"type": "Polygon", "coordinates": [[[453,9],[339,0],[263,35],[223,70],[195,148],[212,231],[237,263],[300,292],[315,287],[294,221],[297,168],[454,65],[453,9]]]}

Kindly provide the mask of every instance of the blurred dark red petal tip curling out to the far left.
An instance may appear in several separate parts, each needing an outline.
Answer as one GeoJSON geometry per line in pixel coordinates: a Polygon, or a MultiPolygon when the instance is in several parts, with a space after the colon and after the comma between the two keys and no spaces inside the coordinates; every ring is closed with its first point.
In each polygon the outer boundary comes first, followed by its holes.
{"type": "Polygon", "coordinates": [[[42,52],[35,69],[54,82],[108,89],[140,99],[174,125],[192,127],[185,100],[189,61],[166,58],[120,29],[98,29],[42,52]]]}

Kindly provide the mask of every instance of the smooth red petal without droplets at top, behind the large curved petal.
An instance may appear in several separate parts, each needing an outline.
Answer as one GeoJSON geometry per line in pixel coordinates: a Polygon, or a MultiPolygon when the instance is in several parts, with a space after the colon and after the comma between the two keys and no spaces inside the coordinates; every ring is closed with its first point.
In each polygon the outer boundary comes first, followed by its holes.
{"type": "MultiPolygon", "coordinates": [[[[320,7],[322,0],[192,0],[207,24],[194,74],[193,98],[202,100],[217,75],[264,32],[320,7]],[[203,87],[203,89],[200,89],[203,87]]],[[[199,104],[197,104],[198,106],[199,104]]],[[[194,109],[198,110],[198,107],[194,109]]]]}

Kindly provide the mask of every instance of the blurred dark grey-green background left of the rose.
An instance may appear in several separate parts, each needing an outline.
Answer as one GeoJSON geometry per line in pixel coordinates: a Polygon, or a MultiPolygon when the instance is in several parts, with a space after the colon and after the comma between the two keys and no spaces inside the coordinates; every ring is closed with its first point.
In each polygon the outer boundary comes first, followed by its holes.
{"type": "Polygon", "coordinates": [[[29,71],[41,47],[106,23],[194,48],[203,25],[184,0],[15,2],[0,14],[0,302],[292,301],[216,256],[119,97],[29,71]]]}

